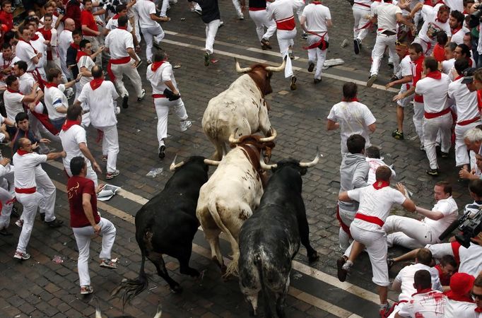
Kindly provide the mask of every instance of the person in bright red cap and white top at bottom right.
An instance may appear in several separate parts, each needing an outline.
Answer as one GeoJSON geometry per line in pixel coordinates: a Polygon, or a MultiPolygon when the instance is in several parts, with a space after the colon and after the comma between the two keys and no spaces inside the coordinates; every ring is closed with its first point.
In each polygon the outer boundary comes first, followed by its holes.
{"type": "Polygon", "coordinates": [[[468,273],[454,273],[450,278],[450,290],[445,305],[445,318],[473,318],[474,300],[471,298],[472,287],[476,278],[468,273]]]}

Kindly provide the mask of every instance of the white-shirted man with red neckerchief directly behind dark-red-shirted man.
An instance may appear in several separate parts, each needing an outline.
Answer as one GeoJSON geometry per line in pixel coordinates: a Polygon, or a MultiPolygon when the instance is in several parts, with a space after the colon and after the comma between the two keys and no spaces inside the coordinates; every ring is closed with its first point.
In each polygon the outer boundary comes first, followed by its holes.
{"type": "Polygon", "coordinates": [[[93,170],[102,173],[100,165],[95,161],[92,153],[90,153],[87,146],[86,129],[81,126],[82,121],[82,107],[80,105],[71,105],[67,110],[67,120],[60,131],[60,140],[62,148],[66,152],[66,156],[62,160],[64,162],[64,169],[69,177],[72,177],[70,170],[70,161],[77,156],[87,158],[87,172],[86,178],[91,179],[95,187],[98,186],[97,174],[93,170]]]}

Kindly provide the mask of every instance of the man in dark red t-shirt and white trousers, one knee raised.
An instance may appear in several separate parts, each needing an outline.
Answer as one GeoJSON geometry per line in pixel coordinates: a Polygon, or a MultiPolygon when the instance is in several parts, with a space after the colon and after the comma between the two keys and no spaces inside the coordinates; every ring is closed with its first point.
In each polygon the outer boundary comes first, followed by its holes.
{"type": "MultiPolygon", "coordinates": [[[[74,120],[67,120],[64,127],[79,124],[74,120]]],[[[72,177],[67,182],[67,194],[70,206],[70,226],[74,231],[78,248],[78,278],[81,294],[93,293],[88,271],[90,239],[93,235],[102,235],[102,251],[99,257],[100,266],[107,269],[117,269],[116,261],[110,258],[112,245],[115,240],[115,227],[106,218],[101,218],[97,211],[97,196],[103,184],[95,189],[94,182],[86,178],[86,159],[79,156],[70,161],[72,177]]]]}

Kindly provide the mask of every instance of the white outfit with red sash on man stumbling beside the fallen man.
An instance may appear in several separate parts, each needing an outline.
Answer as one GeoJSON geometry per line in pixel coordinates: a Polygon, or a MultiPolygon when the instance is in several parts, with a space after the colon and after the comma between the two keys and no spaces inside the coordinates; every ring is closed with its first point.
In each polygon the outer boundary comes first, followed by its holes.
{"type": "MultiPolygon", "coordinates": [[[[388,182],[375,182],[373,185],[348,191],[350,199],[360,202],[358,213],[350,225],[353,240],[365,245],[372,264],[373,283],[388,286],[387,234],[383,223],[393,204],[403,204],[406,197],[388,182]]],[[[353,243],[348,247],[348,257],[353,243]]]]}

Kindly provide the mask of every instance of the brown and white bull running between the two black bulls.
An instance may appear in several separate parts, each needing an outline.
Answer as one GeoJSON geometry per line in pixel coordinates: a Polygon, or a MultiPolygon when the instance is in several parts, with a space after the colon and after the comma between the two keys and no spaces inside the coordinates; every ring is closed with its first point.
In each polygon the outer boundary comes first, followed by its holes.
{"type": "MultiPolygon", "coordinates": [[[[273,139],[274,136],[261,138],[255,135],[234,139],[232,134],[229,140],[237,146],[225,155],[211,178],[199,190],[196,217],[211,247],[211,257],[223,274],[226,267],[219,248],[219,235],[225,232],[233,257],[237,259],[237,237],[241,225],[252,216],[263,195],[265,175],[259,163],[261,151],[271,156],[273,139]]],[[[230,266],[228,273],[236,270],[235,266],[230,266]]]]}

